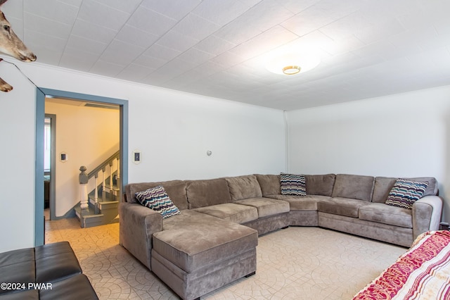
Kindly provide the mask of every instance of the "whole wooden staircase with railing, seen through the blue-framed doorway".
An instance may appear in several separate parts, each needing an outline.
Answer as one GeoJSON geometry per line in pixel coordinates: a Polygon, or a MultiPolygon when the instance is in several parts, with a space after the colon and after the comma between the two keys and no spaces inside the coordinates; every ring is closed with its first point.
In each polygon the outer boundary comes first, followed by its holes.
{"type": "Polygon", "coordinates": [[[80,202],[75,206],[75,215],[81,227],[94,227],[119,222],[117,206],[120,201],[120,152],[117,151],[90,173],[86,167],[79,168],[80,202]],[[98,175],[102,180],[99,180],[98,175]],[[91,192],[88,193],[88,187],[91,192]]]}

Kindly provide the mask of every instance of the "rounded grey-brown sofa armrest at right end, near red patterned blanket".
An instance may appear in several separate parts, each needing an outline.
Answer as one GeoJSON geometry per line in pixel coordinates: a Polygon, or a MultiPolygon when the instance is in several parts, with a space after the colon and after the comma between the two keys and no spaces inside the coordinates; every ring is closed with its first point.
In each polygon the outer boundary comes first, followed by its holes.
{"type": "Polygon", "coordinates": [[[442,199],[439,196],[424,196],[413,204],[413,239],[428,230],[439,230],[442,214],[442,199]]]}

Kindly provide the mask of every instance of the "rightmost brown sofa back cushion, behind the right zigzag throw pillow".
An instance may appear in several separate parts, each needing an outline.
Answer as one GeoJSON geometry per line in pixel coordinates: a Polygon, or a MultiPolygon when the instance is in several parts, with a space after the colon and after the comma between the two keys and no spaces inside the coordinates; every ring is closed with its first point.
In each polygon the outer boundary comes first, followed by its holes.
{"type": "MultiPolygon", "coordinates": [[[[413,180],[419,182],[428,182],[428,187],[422,196],[437,195],[437,180],[435,177],[402,177],[406,180],[413,180]]],[[[385,203],[387,195],[394,187],[397,178],[395,177],[376,177],[375,187],[373,188],[372,202],[385,203]]]]}

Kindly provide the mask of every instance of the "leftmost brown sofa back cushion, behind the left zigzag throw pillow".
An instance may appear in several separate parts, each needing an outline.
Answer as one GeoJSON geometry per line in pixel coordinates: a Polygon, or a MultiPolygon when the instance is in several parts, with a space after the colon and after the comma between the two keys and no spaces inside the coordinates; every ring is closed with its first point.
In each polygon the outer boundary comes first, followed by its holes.
{"type": "Polygon", "coordinates": [[[172,202],[180,210],[188,208],[188,199],[186,197],[186,182],[182,180],[171,180],[163,182],[141,182],[141,183],[130,183],[125,186],[125,201],[129,203],[139,203],[136,199],[136,192],[142,192],[151,187],[157,187],[161,185],[164,187],[167,195],[170,197],[172,202]]]}

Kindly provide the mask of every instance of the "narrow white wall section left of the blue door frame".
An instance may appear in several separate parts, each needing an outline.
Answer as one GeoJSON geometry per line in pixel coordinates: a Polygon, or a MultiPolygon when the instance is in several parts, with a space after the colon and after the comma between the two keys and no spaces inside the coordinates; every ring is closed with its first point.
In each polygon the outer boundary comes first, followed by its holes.
{"type": "Polygon", "coordinates": [[[13,65],[0,63],[1,77],[13,85],[0,92],[0,252],[34,242],[35,92],[13,65]],[[33,100],[34,99],[34,100],[33,100]]]}

